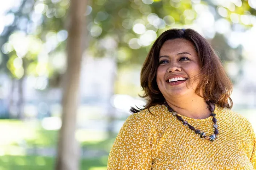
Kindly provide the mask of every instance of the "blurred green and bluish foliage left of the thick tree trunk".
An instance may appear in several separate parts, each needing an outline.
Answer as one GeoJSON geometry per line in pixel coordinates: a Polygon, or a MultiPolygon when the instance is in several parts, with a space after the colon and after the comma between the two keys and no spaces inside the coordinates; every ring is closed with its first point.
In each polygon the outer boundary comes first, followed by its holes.
{"type": "Polygon", "coordinates": [[[8,12],[15,19],[1,36],[2,71],[18,79],[24,74],[51,77],[58,72],[48,58],[65,49],[63,30],[69,0],[56,2],[23,0],[18,10],[8,12]]]}

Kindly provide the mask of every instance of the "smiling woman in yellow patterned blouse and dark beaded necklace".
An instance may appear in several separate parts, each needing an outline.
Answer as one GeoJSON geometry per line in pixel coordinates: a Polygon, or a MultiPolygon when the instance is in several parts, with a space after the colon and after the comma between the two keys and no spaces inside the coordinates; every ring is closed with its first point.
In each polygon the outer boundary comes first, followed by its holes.
{"type": "Polygon", "coordinates": [[[254,130],[231,111],[232,82],[196,31],[172,29],[157,38],[141,87],[147,103],[130,110],[107,169],[256,169],[254,130]]]}

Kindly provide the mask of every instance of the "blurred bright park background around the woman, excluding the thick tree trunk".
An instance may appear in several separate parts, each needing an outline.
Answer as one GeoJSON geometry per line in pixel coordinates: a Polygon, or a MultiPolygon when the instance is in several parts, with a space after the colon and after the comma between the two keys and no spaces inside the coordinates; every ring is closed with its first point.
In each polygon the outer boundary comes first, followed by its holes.
{"type": "MultiPolygon", "coordinates": [[[[55,167],[71,1],[0,1],[0,170],[55,167]]],[[[256,0],[87,0],[83,7],[80,169],[106,170],[130,106],[145,103],[142,63],[171,28],[209,40],[234,83],[233,110],[256,131],[256,0]]]]}

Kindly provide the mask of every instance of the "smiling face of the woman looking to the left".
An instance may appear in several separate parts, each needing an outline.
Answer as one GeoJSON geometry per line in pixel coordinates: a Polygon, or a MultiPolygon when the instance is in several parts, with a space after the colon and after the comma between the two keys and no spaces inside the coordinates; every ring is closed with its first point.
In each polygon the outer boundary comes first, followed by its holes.
{"type": "Polygon", "coordinates": [[[164,98],[195,94],[200,73],[199,58],[193,44],[181,38],[167,40],[159,53],[156,81],[164,98]]]}

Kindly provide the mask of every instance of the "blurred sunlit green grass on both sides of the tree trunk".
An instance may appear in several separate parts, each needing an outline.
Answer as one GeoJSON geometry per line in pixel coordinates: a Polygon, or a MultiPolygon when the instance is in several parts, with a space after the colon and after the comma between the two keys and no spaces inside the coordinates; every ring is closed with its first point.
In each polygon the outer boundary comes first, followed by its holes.
{"type": "MultiPolygon", "coordinates": [[[[26,155],[25,147],[57,146],[58,131],[45,130],[39,122],[0,120],[0,170],[53,170],[54,157],[26,155]]],[[[107,139],[103,132],[78,130],[76,138],[83,150],[108,153],[115,138],[107,139]]],[[[81,170],[106,170],[107,155],[81,159],[81,170]]]]}

